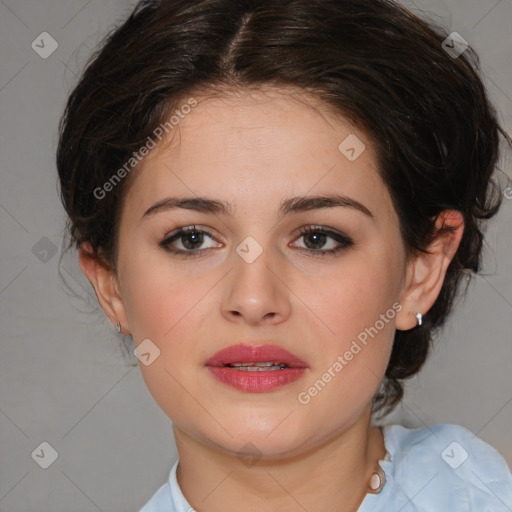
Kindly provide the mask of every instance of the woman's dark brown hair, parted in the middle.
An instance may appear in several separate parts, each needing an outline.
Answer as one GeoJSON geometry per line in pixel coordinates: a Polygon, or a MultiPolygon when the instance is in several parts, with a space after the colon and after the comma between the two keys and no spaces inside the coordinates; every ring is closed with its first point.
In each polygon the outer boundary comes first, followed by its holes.
{"type": "MultiPolygon", "coordinates": [[[[108,34],[69,96],[57,168],[70,244],[89,242],[116,269],[123,197],[135,173],[112,178],[194,93],[266,86],[314,94],[377,148],[408,256],[427,251],[446,209],[464,232],[422,325],[395,333],[374,412],[389,413],[423,366],[461,277],[478,272],[481,222],[502,194],[497,120],[478,56],[442,46],[444,29],[391,0],[143,0],[108,34]]],[[[441,230],[450,228],[441,227],[441,230]]],[[[68,247],[68,248],[69,248],[68,247]]]]}

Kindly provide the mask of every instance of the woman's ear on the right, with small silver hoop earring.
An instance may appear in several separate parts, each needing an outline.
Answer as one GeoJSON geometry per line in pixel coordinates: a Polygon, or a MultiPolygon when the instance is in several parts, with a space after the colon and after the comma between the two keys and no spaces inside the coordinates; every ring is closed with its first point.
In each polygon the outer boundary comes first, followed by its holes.
{"type": "Polygon", "coordinates": [[[448,265],[460,244],[464,231],[464,218],[456,210],[444,210],[436,218],[436,229],[448,228],[432,240],[429,254],[417,252],[407,263],[406,277],[400,296],[402,310],[396,316],[396,328],[409,330],[417,325],[414,312],[425,315],[436,301],[448,265]]]}

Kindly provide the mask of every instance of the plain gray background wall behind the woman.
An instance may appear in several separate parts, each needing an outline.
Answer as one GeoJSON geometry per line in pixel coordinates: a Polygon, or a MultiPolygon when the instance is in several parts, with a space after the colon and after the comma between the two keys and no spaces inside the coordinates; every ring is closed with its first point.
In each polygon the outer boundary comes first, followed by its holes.
{"type": "MultiPolygon", "coordinates": [[[[511,133],[512,1],[404,3],[432,13],[476,49],[511,133]]],[[[176,459],[170,421],[139,369],[123,365],[106,317],[91,313],[95,298],[75,253],[62,260],[62,273],[92,298],[73,298],[58,274],[65,221],[54,161],[58,119],[90,51],[133,5],[0,0],[0,512],[136,511],[176,459]],[[46,59],[31,47],[44,31],[58,43],[46,59]],[[58,453],[48,469],[31,456],[43,441],[58,453]]],[[[505,184],[510,163],[502,165],[505,184]]],[[[509,464],[511,221],[506,199],[486,233],[483,275],[388,418],[406,426],[461,424],[509,464]]]]}

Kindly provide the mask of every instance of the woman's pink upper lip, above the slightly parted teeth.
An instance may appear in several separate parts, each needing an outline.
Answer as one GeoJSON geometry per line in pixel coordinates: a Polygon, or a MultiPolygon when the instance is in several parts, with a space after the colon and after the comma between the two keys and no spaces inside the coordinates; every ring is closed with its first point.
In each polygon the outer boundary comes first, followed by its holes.
{"type": "Polygon", "coordinates": [[[284,363],[290,368],[308,368],[308,364],[284,348],[272,344],[232,345],[219,350],[210,357],[205,366],[224,366],[232,363],[262,363],[271,361],[284,363]]]}

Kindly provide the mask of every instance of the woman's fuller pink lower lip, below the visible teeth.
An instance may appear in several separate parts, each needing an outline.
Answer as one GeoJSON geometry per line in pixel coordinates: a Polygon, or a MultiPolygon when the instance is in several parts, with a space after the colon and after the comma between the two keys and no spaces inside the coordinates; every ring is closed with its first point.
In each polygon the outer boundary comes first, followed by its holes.
{"type": "Polygon", "coordinates": [[[262,393],[296,381],[306,368],[285,368],[270,371],[235,370],[227,366],[207,366],[213,376],[223,384],[249,393],[262,393]]]}

